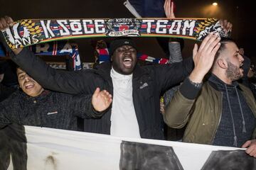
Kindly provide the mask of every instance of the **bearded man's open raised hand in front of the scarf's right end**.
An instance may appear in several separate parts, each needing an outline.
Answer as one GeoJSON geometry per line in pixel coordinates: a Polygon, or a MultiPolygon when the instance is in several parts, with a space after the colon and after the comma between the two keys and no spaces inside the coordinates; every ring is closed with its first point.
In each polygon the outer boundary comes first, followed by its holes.
{"type": "Polygon", "coordinates": [[[213,66],[213,61],[216,52],[220,48],[220,38],[218,33],[210,33],[201,43],[199,49],[195,44],[193,48],[193,61],[195,68],[191,72],[189,79],[195,83],[201,83],[203,77],[207,74],[210,68],[213,66]]]}

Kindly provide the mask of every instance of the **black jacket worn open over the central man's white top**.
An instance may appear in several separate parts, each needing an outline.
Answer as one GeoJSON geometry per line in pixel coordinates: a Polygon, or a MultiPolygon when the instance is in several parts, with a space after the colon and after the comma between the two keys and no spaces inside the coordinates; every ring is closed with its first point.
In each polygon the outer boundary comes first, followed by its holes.
{"type": "MultiPolygon", "coordinates": [[[[12,56],[12,60],[47,89],[69,94],[92,94],[99,86],[113,94],[110,62],[100,64],[96,69],[66,72],[50,68],[27,48],[12,56]]],[[[191,58],[175,64],[135,67],[132,80],[133,100],[141,137],[164,139],[159,98],[162,92],[183,81],[192,69],[191,58]]],[[[111,108],[98,120],[85,119],[85,131],[110,134],[110,115],[111,108]]]]}

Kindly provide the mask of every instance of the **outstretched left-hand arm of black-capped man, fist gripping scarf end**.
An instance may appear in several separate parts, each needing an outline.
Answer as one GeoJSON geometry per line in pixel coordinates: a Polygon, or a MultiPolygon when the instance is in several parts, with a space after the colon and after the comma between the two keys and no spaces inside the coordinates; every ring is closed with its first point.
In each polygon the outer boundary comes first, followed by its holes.
{"type": "MultiPolygon", "coordinates": [[[[0,30],[11,26],[13,22],[8,16],[1,18],[0,30]]],[[[90,93],[91,89],[87,85],[92,83],[93,72],[91,70],[66,72],[53,69],[39,57],[36,57],[27,47],[11,51],[2,33],[0,33],[0,37],[6,50],[11,53],[11,59],[46,89],[69,94],[90,93]],[[81,72],[86,72],[86,74],[81,74],[81,72]]]]}

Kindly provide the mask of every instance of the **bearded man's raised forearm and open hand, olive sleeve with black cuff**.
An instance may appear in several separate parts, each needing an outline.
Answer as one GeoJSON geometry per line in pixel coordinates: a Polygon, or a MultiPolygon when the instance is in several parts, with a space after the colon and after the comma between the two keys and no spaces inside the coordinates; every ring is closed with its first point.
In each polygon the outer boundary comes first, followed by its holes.
{"type": "Polygon", "coordinates": [[[195,44],[193,48],[195,68],[166,107],[164,121],[170,127],[182,128],[186,125],[190,114],[193,113],[193,103],[201,90],[203,77],[213,65],[215,54],[220,47],[219,41],[218,35],[210,34],[203,40],[199,49],[195,44]]]}

